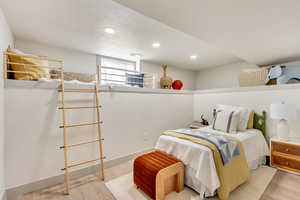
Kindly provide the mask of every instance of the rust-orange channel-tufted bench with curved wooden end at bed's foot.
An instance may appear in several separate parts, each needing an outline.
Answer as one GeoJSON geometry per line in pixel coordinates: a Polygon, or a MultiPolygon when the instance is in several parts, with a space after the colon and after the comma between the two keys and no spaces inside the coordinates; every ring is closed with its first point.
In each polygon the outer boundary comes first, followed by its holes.
{"type": "Polygon", "coordinates": [[[139,156],[133,166],[134,184],[156,200],[184,188],[183,163],[163,152],[155,151],[139,156]]]}

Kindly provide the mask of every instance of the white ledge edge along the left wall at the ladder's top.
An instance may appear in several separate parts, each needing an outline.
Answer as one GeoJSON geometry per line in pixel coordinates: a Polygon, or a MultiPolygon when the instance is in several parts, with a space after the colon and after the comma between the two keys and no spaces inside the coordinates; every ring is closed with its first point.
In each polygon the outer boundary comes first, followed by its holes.
{"type": "MultiPolygon", "coordinates": [[[[12,80],[7,79],[4,82],[5,88],[31,88],[31,89],[57,89],[60,82],[47,82],[47,81],[25,81],[25,80],[12,80]]],[[[73,89],[91,89],[91,84],[76,84],[65,83],[65,88],[73,89]]],[[[187,94],[193,95],[193,90],[166,90],[159,88],[138,88],[138,87],[124,87],[116,85],[101,85],[101,92],[117,92],[117,93],[146,93],[146,94],[187,94]]]]}

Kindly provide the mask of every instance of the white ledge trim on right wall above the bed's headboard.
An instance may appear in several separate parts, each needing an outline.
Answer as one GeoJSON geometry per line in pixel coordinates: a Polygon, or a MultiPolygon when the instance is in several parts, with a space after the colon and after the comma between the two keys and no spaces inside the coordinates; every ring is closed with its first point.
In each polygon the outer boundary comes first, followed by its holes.
{"type": "Polygon", "coordinates": [[[252,87],[236,87],[236,88],[219,88],[219,89],[195,90],[194,94],[269,91],[269,90],[293,90],[293,89],[300,89],[300,84],[266,85],[266,86],[252,86],[252,87]]]}

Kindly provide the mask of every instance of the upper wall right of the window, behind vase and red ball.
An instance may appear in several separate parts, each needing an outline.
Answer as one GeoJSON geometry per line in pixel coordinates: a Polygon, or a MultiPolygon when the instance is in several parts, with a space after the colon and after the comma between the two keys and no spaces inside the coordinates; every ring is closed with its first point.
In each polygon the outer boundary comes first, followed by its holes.
{"type": "MultiPolygon", "coordinates": [[[[161,65],[142,62],[142,71],[153,73],[155,76],[155,86],[159,88],[160,78],[163,76],[163,69],[161,65]]],[[[172,66],[168,66],[167,75],[172,77],[173,80],[181,80],[183,82],[184,90],[196,89],[196,71],[180,69],[172,66]]]]}

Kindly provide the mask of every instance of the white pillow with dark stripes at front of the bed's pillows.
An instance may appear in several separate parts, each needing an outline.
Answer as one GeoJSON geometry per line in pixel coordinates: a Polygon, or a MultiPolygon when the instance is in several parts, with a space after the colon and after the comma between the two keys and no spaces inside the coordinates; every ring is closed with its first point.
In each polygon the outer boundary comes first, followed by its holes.
{"type": "Polygon", "coordinates": [[[240,121],[240,113],[233,110],[218,110],[212,128],[226,133],[235,133],[240,121]]]}

